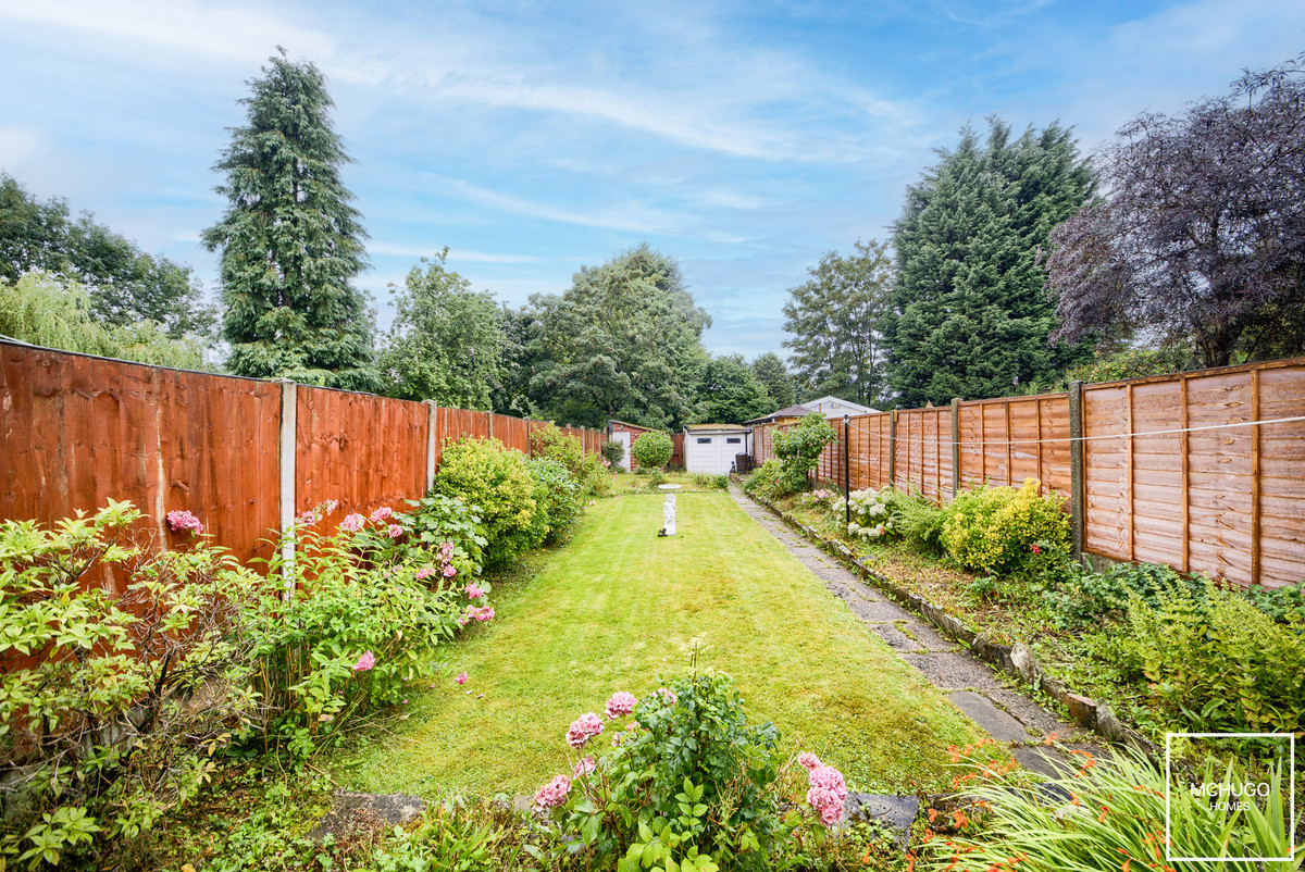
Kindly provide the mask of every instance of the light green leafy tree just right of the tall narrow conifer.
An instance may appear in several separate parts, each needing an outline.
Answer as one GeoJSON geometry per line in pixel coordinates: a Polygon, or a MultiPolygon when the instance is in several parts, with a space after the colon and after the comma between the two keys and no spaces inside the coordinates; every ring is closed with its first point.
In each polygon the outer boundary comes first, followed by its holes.
{"type": "Polygon", "coordinates": [[[457,409],[489,409],[499,379],[504,332],[499,304],[488,291],[445,268],[449,249],[414,266],[395,300],[389,343],[381,352],[384,393],[401,399],[435,399],[457,409]]]}

